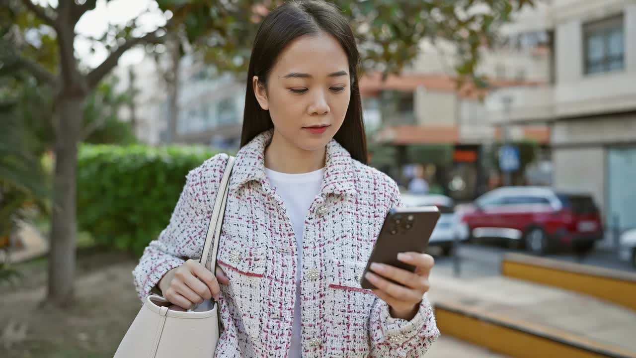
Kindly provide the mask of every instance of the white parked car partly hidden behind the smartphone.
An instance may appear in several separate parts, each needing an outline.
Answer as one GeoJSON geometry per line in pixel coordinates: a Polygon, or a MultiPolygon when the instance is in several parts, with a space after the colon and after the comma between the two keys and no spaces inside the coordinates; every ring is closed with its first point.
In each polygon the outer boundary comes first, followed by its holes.
{"type": "Polygon", "coordinates": [[[434,205],[438,207],[441,216],[431,234],[429,246],[441,248],[444,255],[450,254],[453,250],[453,240],[458,235],[453,199],[439,194],[411,194],[403,192],[402,202],[405,206],[434,205]]]}

